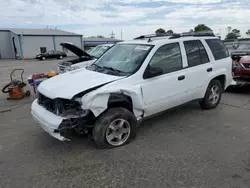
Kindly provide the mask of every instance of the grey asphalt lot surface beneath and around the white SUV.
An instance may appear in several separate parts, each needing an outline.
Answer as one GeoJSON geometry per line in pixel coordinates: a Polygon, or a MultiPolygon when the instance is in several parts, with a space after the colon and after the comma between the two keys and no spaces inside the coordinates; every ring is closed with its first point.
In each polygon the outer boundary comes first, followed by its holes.
{"type": "MultiPolygon", "coordinates": [[[[0,61],[0,86],[13,68],[26,78],[56,62],[0,61]]],[[[33,99],[0,94],[0,187],[250,187],[250,93],[227,92],[211,111],[196,103],[168,111],[112,150],[85,137],[55,140],[32,120],[33,99]]]]}

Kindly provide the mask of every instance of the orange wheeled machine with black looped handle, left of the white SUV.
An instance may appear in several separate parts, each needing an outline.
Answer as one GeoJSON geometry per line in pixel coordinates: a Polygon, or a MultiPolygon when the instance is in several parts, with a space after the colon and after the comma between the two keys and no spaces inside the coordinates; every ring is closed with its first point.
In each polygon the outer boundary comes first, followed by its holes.
{"type": "Polygon", "coordinates": [[[2,92],[3,93],[9,93],[9,97],[7,100],[19,100],[23,99],[24,97],[30,96],[30,91],[25,91],[24,87],[26,84],[23,82],[23,69],[14,69],[10,74],[10,80],[11,82],[8,83],[6,86],[3,87],[2,92]],[[21,81],[13,79],[13,74],[16,71],[22,71],[21,73],[21,81]]]}

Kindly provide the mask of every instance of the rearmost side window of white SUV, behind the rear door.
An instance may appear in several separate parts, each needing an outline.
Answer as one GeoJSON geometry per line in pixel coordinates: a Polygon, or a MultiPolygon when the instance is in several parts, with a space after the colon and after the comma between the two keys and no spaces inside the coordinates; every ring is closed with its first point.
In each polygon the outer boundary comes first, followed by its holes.
{"type": "Polygon", "coordinates": [[[215,60],[227,58],[229,56],[228,50],[219,39],[207,39],[208,46],[210,47],[215,60]]]}

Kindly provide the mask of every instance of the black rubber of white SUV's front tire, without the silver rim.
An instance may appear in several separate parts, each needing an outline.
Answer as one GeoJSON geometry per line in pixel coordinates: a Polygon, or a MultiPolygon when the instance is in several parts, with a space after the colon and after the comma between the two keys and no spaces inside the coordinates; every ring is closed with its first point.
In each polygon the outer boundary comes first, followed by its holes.
{"type": "Polygon", "coordinates": [[[137,120],[133,113],[125,108],[111,108],[104,112],[96,120],[93,129],[93,139],[97,148],[108,149],[128,144],[136,136],[137,120]],[[106,139],[106,132],[109,125],[117,119],[124,119],[130,124],[130,134],[127,140],[121,145],[111,145],[106,139]]]}

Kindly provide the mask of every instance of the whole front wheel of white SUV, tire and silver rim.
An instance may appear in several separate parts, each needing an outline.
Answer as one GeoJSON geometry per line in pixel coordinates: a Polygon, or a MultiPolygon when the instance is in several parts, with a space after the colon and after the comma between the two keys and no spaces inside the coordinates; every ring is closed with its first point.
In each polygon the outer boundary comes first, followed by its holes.
{"type": "Polygon", "coordinates": [[[137,120],[124,108],[111,108],[96,121],[93,138],[98,148],[114,148],[129,143],[136,135],[137,120]]]}

